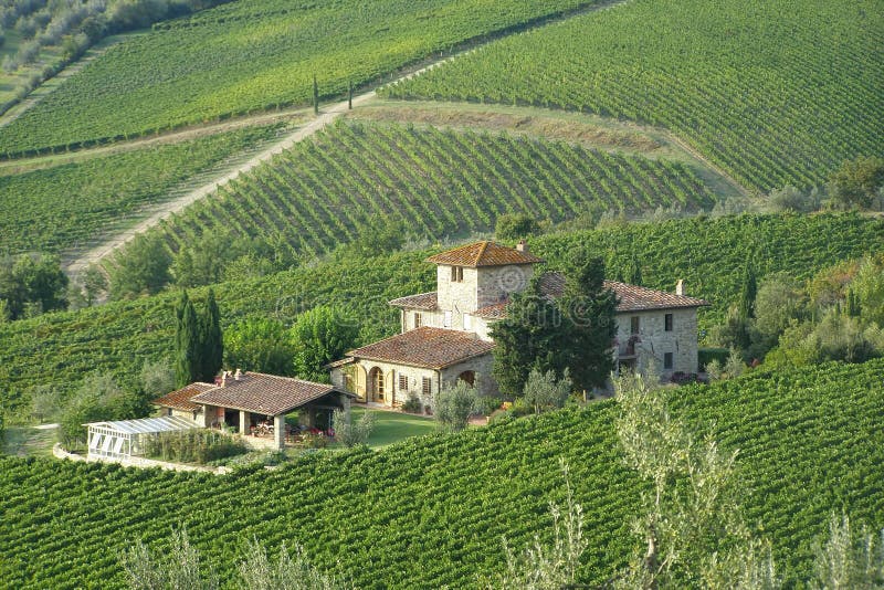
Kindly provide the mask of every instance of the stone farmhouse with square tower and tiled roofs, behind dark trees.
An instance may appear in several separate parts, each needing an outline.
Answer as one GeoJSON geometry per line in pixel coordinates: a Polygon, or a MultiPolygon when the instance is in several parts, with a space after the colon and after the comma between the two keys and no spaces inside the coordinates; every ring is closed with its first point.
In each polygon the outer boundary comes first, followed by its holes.
{"type": "MultiPolygon", "coordinates": [[[[461,379],[495,393],[491,326],[505,317],[512,293],[524,289],[544,262],[520,242],[515,249],[476,242],[427,259],[436,265],[436,291],[400,297],[400,334],[350,350],[329,365],[335,387],[361,401],[399,405],[410,394],[433,396],[461,379]]],[[[561,295],[565,277],[545,273],[541,292],[561,295]]],[[[697,308],[707,303],[684,294],[606,281],[618,298],[618,370],[644,368],[653,359],[662,379],[697,371],[697,308]]]]}

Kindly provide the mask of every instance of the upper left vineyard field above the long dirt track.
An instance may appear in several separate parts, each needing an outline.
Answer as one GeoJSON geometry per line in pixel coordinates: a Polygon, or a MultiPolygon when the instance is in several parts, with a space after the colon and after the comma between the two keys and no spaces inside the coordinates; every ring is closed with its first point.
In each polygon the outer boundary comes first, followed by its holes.
{"type": "Polygon", "coordinates": [[[244,0],[112,48],[0,129],[0,151],[65,146],[340,95],[581,0],[244,0]]]}

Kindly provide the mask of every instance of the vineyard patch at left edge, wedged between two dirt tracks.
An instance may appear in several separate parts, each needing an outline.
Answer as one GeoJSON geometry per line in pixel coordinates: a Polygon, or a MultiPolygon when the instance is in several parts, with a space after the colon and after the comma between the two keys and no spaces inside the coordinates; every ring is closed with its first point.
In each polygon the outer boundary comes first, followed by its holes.
{"type": "Polygon", "coordinates": [[[269,139],[250,128],[176,145],[0,176],[0,253],[59,252],[131,223],[201,170],[269,139]]]}

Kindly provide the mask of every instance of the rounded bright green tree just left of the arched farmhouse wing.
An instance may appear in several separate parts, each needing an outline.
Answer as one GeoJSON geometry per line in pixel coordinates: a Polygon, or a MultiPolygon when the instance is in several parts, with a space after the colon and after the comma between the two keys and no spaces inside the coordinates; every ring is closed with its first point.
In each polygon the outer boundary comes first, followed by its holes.
{"type": "Polygon", "coordinates": [[[322,305],[304,312],[292,326],[294,371],[308,381],[328,381],[325,366],[356,344],[357,323],[337,307],[322,305]]]}

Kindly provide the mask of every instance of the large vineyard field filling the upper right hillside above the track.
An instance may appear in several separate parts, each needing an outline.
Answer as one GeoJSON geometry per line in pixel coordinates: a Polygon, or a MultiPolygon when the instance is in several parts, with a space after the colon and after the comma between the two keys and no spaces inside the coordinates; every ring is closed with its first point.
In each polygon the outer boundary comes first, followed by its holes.
{"type": "Polygon", "coordinates": [[[630,2],[513,35],[381,95],[650,123],[758,191],[809,188],[844,158],[884,152],[882,25],[875,0],[630,2]]]}

